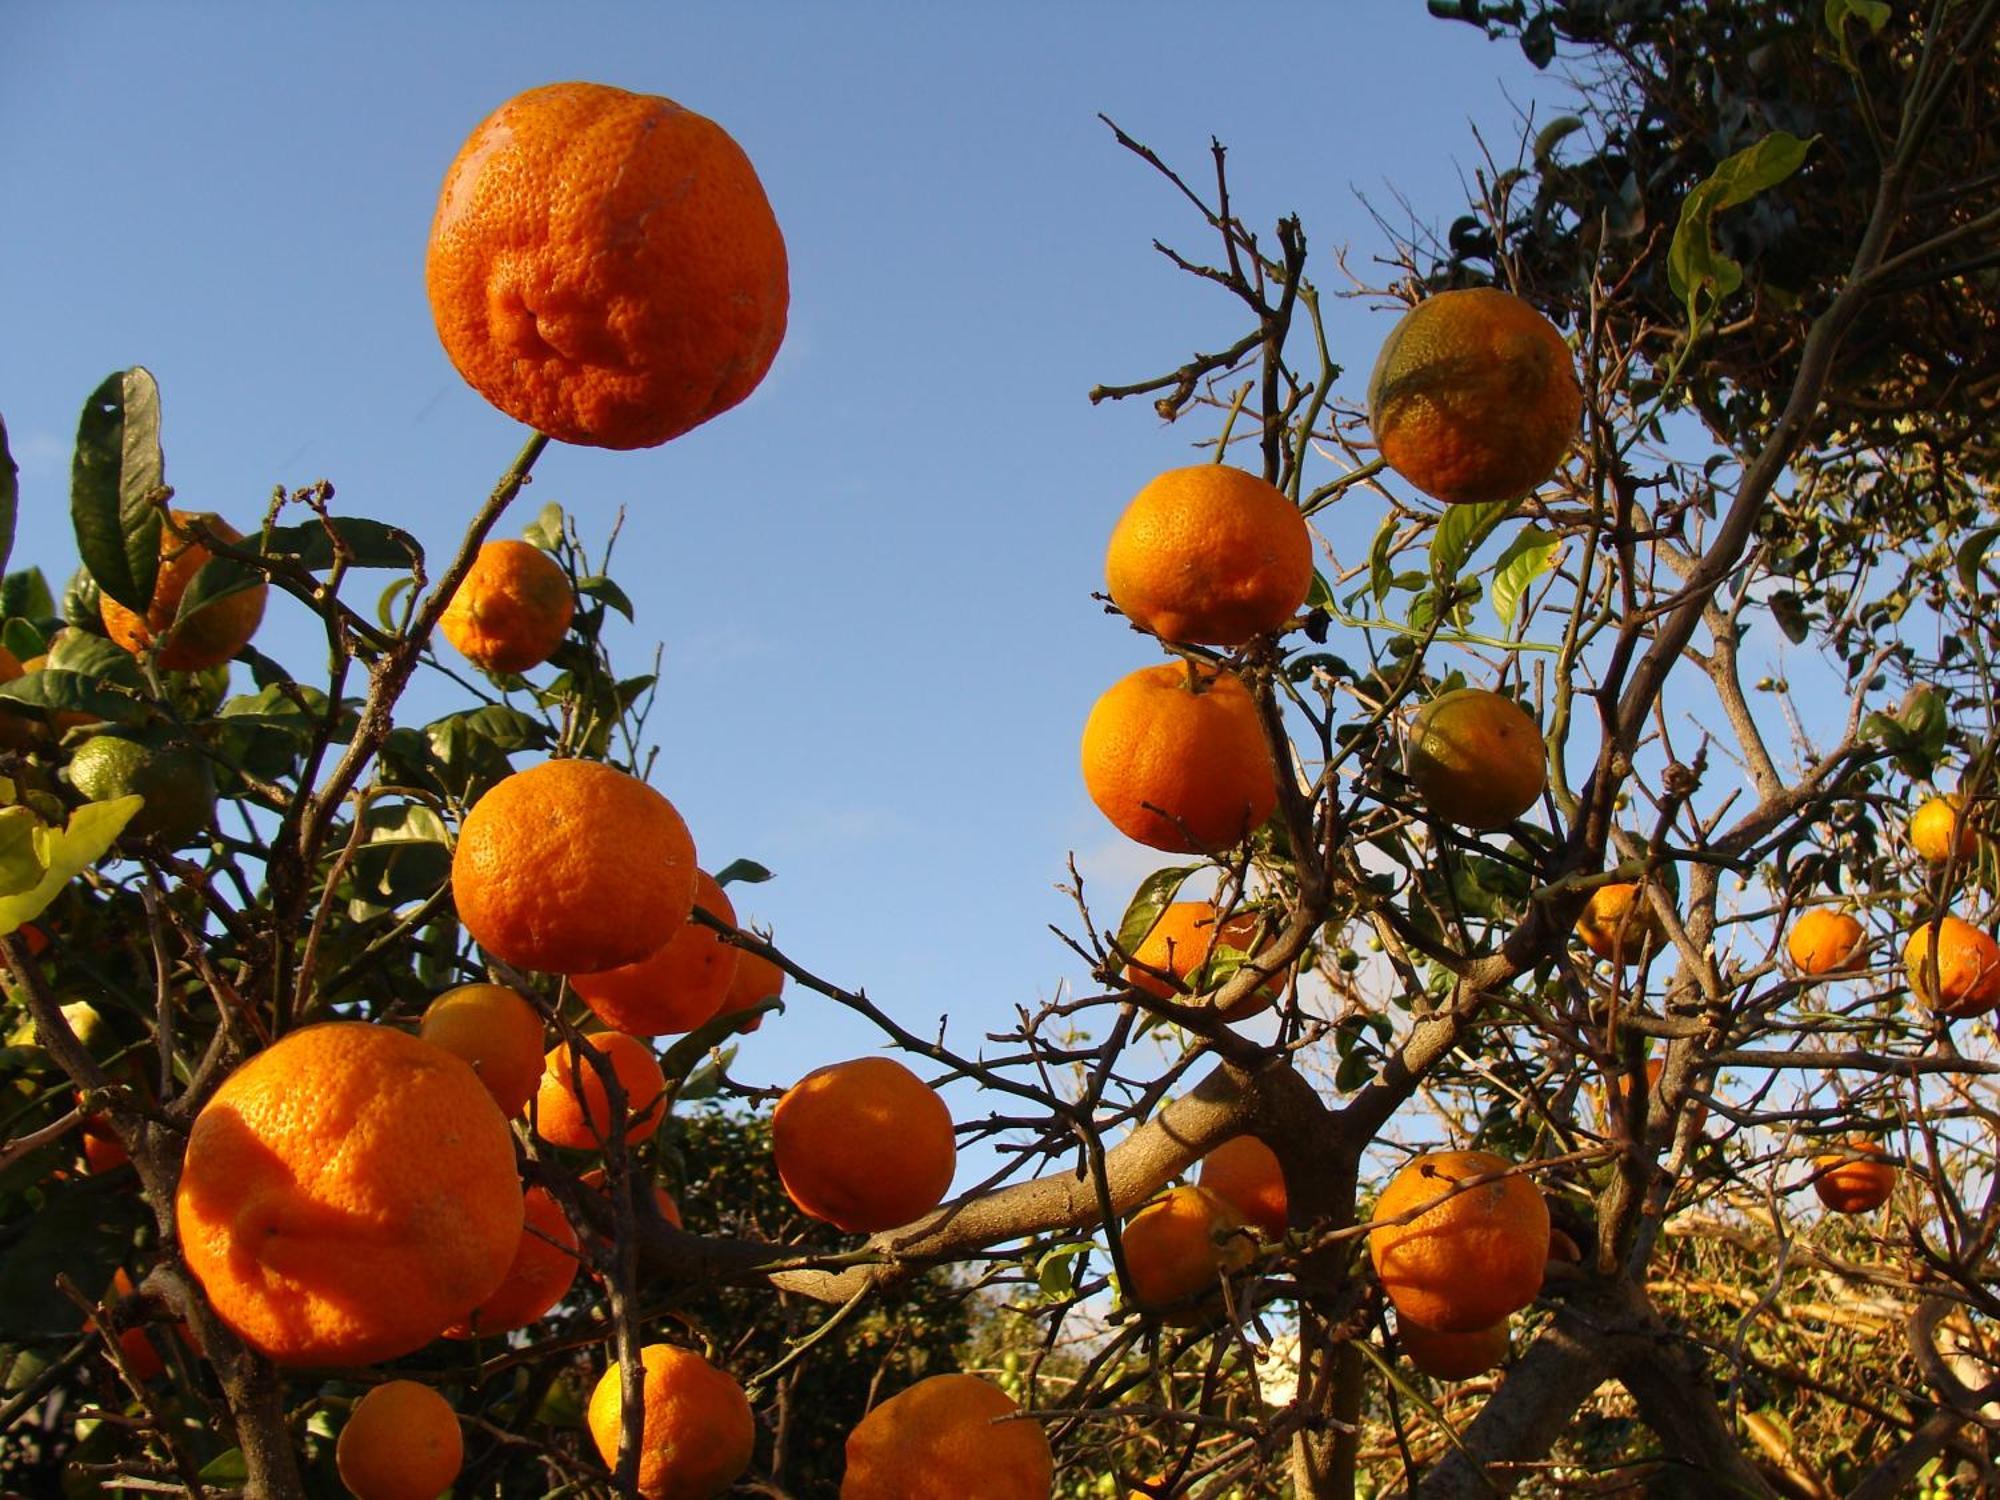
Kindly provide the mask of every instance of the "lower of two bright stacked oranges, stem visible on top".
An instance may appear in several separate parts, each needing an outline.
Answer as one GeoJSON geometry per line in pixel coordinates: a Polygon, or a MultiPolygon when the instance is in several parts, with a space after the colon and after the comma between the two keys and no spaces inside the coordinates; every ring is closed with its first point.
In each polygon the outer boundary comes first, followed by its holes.
{"type": "Polygon", "coordinates": [[[1278,806],[1250,690],[1228,672],[1142,666],[1084,722],[1084,788],[1126,838],[1174,854],[1240,844],[1278,806]]]}

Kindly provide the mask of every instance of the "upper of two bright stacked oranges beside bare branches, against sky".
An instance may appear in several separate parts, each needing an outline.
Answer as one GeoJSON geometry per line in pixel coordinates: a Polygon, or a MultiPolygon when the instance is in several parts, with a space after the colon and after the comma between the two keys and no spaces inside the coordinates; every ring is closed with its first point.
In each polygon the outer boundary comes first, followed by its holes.
{"type": "Polygon", "coordinates": [[[1312,590],[1312,534],[1278,486],[1228,464],[1170,468],[1112,528],[1104,578],[1162,640],[1242,646],[1290,624],[1312,590]]]}

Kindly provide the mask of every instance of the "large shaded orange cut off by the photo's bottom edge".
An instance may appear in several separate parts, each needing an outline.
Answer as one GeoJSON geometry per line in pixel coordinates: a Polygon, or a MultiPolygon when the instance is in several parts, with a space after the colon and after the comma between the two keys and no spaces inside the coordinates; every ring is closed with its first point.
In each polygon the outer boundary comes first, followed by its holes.
{"type": "Polygon", "coordinates": [[[1000,1386],[942,1374],[898,1390],[848,1432],[840,1500],[1048,1500],[1048,1434],[1000,1386]]]}

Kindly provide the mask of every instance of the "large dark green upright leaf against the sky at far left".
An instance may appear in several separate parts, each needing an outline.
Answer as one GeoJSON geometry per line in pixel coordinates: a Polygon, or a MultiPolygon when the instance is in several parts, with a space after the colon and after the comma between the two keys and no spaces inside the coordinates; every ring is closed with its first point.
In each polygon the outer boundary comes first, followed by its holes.
{"type": "Polygon", "coordinates": [[[70,522],[76,554],[106,594],[144,614],[160,570],[160,386],[140,366],[90,392],[76,424],[70,522]]]}

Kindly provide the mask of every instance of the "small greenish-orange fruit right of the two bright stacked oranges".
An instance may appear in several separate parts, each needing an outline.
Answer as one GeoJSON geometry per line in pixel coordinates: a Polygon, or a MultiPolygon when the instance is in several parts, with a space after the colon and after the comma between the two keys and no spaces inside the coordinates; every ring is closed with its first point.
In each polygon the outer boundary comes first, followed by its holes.
{"type": "Polygon", "coordinates": [[[1416,712],[1404,770],[1430,816],[1460,828],[1506,828],[1548,786],[1548,750],[1512,698],[1458,688],[1416,712]]]}

